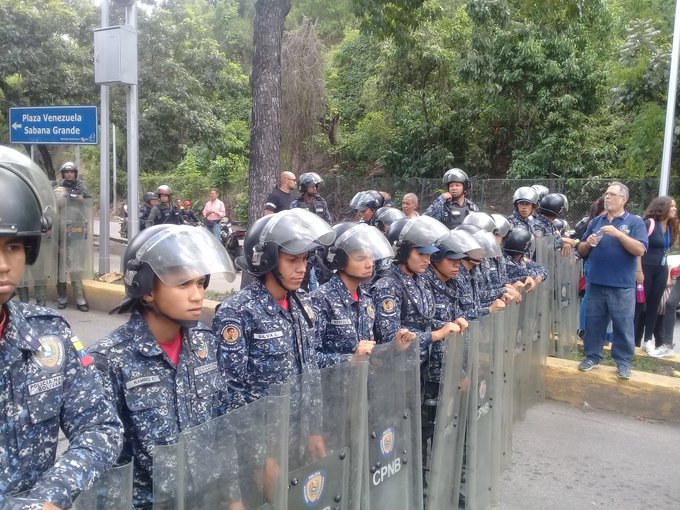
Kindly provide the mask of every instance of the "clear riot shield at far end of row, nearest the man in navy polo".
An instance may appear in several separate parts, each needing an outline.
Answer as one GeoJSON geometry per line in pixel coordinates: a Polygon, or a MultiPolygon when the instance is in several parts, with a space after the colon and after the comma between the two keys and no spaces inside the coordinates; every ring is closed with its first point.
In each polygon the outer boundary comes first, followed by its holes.
{"type": "Polygon", "coordinates": [[[577,350],[578,278],[580,260],[557,257],[555,268],[555,340],[556,355],[570,357],[577,350]]]}

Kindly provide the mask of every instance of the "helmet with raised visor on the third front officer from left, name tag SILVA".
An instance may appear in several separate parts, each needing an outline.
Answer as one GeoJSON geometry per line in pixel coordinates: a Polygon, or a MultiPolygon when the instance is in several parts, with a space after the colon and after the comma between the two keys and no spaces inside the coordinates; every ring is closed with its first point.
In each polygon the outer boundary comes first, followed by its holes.
{"type": "Polygon", "coordinates": [[[246,233],[243,256],[236,264],[255,276],[276,268],[279,251],[301,255],[314,248],[329,246],[335,232],[328,223],[306,209],[290,209],[264,216],[246,233]]]}

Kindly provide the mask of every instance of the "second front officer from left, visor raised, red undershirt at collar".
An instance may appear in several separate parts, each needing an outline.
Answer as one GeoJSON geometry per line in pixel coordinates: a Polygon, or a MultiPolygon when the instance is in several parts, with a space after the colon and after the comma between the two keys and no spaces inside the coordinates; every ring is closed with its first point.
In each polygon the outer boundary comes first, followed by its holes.
{"type": "MultiPolygon", "coordinates": [[[[130,320],[90,353],[123,421],[118,464],[134,460],[134,507],[150,508],[153,448],[176,443],[181,431],[227,409],[218,342],[198,320],[210,275],[233,280],[235,273],[214,236],[186,225],[140,232],[124,266],[125,299],[114,310],[131,313],[130,320]]],[[[231,491],[228,499],[240,495],[231,491]]]]}

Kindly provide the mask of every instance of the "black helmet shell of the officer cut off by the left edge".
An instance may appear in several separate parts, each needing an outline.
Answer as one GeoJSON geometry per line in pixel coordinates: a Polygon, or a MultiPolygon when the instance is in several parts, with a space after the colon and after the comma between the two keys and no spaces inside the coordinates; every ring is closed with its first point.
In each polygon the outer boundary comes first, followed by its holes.
{"type": "Polygon", "coordinates": [[[43,216],[35,187],[14,165],[0,163],[0,181],[0,235],[21,238],[26,264],[32,265],[40,252],[41,235],[50,229],[51,220],[43,216]]]}

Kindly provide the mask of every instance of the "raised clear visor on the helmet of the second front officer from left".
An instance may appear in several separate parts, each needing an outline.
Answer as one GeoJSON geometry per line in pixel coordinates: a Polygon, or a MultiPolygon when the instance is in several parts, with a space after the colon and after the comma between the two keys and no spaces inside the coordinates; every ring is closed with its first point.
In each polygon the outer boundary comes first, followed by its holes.
{"type": "Polygon", "coordinates": [[[236,278],[227,251],[204,228],[180,225],[162,230],[139,248],[136,257],[171,287],[208,274],[224,274],[230,282],[236,278]]]}

